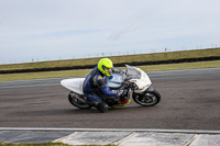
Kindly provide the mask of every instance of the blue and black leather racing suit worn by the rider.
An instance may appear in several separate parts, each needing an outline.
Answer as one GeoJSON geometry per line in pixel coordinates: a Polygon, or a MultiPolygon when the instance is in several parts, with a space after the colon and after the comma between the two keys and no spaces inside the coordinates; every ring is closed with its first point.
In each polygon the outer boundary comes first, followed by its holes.
{"type": "Polygon", "coordinates": [[[106,78],[107,77],[99,71],[98,67],[95,67],[89,72],[84,82],[84,93],[88,101],[100,103],[102,102],[102,98],[116,97],[119,93],[118,90],[113,91],[109,89],[106,78]]]}

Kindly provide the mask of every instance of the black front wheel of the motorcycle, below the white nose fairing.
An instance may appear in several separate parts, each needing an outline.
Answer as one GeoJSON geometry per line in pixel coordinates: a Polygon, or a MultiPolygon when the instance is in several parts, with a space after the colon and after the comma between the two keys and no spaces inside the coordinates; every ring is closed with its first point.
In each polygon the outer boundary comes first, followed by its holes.
{"type": "Polygon", "coordinates": [[[143,94],[133,94],[133,100],[143,106],[153,106],[161,101],[161,94],[155,89],[143,94]]]}

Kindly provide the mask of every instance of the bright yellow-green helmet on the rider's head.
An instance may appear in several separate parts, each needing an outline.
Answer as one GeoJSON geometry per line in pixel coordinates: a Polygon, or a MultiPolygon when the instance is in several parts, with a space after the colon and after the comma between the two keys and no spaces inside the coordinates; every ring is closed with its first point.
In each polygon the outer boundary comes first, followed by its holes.
{"type": "Polygon", "coordinates": [[[99,70],[107,77],[111,75],[112,61],[109,58],[102,58],[98,63],[99,70]]]}

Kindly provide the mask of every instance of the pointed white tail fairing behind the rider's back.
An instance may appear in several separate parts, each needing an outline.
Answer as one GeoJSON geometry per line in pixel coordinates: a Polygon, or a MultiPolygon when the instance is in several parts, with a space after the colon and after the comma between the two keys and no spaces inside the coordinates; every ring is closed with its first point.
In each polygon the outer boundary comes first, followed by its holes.
{"type": "Polygon", "coordinates": [[[64,79],[61,81],[61,85],[70,91],[74,91],[78,94],[84,94],[82,86],[84,86],[85,79],[86,78],[64,79]]]}

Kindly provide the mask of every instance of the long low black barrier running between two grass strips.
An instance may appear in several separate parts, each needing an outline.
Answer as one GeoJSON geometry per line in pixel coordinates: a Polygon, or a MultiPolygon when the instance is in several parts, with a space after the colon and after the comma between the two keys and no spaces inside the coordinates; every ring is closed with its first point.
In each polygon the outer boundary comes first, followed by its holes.
{"type": "MultiPolygon", "coordinates": [[[[131,65],[131,66],[144,66],[144,65],[179,64],[179,63],[194,63],[194,61],[208,61],[208,60],[220,60],[220,56],[169,59],[169,60],[155,60],[155,61],[120,63],[120,64],[114,64],[114,67],[124,67],[125,64],[131,65]]],[[[0,70],[0,74],[20,74],[20,72],[58,71],[58,70],[73,70],[73,69],[91,69],[96,66],[97,65],[85,65],[85,66],[70,66],[70,67],[51,67],[51,68],[0,70]]]]}

